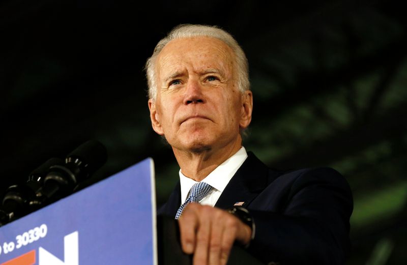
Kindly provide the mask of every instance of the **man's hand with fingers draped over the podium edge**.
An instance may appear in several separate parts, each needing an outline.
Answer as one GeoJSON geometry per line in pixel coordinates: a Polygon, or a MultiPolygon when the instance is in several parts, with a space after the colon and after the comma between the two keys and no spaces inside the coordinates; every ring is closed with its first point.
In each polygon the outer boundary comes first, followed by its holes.
{"type": "Polygon", "coordinates": [[[247,245],[251,227],[218,208],[189,203],[179,221],[181,246],[194,265],[224,265],[235,240],[247,245]]]}

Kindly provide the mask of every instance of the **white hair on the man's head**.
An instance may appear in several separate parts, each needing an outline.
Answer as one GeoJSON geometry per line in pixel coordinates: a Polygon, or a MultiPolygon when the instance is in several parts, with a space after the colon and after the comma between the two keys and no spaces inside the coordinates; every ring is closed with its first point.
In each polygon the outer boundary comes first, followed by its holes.
{"type": "Polygon", "coordinates": [[[193,25],[193,24],[181,24],[174,27],[170,33],[163,39],[161,39],[154,48],[153,55],[148,58],[146,63],[147,82],[149,85],[149,98],[155,100],[157,97],[157,77],[156,77],[156,62],[158,54],[164,48],[164,46],[176,39],[193,38],[193,37],[211,37],[223,41],[229,46],[235,53],[235,65],[236,65],[236,86],[243,93],[250,89],[249,83],[249,65],[246,55],[238,42],[226,31],[217,26],[208,25],[193,25]]]}

